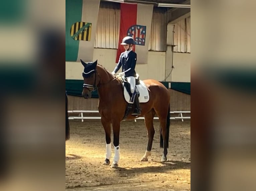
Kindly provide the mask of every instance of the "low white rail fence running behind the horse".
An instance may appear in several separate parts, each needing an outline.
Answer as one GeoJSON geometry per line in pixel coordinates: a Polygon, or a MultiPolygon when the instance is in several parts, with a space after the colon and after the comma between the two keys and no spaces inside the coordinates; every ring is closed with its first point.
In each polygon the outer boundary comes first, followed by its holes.
{"type": "MultiPolygon", "coordinates": [[[[101,119],[100,116],[97,117],[93,117],[93,116],[87,116],[84,117],[84,113],[99,113],[98,110],[70,110],[68,111],[68,113],[78,113],[78,116],[69,116],[69,119],[81,119],[82,122],[84,122],[84,119],[101,119]]],[[[170,119],[181,119],[182,121],[184,121],[184,119],[190,119],[190,116],[183,116],[183,114],[186,113],[186,115],[189,113],[190,115],[190,111],[170,111],[170,114],[177,114],[178,116],[171,116],[170,119]]],[[[137,119],[144,119],[144,117],[138,117],[136,119],[134,119],[134,121],[136,122],[137,119]]],[[[158,117],[154,117],[154,119],[159,119],[158,117]]]]}

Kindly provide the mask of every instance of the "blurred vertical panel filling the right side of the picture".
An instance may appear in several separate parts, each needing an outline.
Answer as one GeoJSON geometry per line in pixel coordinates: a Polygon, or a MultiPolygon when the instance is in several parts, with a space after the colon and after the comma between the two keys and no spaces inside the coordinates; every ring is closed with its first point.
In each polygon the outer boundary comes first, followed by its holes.
{"type": "Polygon", "coordinates": [[[256,190],[256,1],[191,1],[191,190],[256,190]]]}

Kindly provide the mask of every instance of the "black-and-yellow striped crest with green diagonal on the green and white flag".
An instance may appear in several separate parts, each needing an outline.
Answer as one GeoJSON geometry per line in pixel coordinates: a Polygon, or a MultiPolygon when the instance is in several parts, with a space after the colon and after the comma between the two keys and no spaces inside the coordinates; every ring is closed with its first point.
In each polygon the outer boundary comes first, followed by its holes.
{"type": "Polygon", "coordinates": [[[90,41],[92,33],[92,23],[76,22],[71,26],[70,35],[78,41],[90,41]]]}

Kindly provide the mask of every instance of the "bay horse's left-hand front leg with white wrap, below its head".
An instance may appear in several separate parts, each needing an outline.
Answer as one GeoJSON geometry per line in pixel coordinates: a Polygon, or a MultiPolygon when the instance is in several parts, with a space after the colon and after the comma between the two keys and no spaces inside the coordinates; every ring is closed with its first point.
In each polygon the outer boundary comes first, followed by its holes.
{"type": "Polygon", "coordinates": [[[110,158],[111,158],[111,125],[110,125],[110,121],[108,121],[104,117],[101,117],[101,123],[104,127],[105,135],[106,135],[106,159],[103,164],[109,165],[110,158]]]}

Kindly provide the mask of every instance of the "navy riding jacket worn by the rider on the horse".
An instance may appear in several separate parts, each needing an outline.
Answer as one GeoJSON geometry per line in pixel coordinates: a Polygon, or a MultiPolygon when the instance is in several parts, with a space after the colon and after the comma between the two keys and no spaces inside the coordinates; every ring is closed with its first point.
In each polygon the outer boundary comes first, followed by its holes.
{"type": "Polygon", "coordinates": [[[121,68],[122,66],[122,72],[128,70],[131,68],[131,70],[125,72],[125,77],[136,77],[136,72],[135,72],[135,66],[136,66],[136,61],[137,61],[137,54],[133,51],[129,52],[127,55],[127,58],[125,57],[125,52],[122,52],[119,58],[119,61],[114,69],[114,72],[117,73],[117,71],[121,68]]]}

